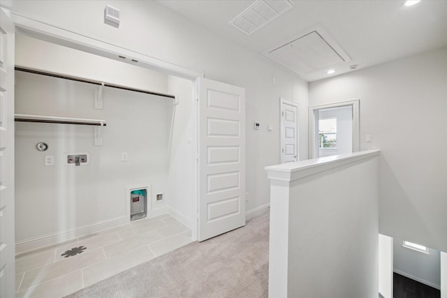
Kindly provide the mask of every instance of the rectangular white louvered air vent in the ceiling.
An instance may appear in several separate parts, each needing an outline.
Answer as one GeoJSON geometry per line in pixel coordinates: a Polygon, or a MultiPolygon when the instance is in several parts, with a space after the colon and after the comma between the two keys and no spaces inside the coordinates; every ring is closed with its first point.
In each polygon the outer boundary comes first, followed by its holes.
{"type": "Polygon", "coordinates": [[[258,0],[231,20],[230,25],[250,35],[291,8],[293,3],[288,0],[258,0]]]}

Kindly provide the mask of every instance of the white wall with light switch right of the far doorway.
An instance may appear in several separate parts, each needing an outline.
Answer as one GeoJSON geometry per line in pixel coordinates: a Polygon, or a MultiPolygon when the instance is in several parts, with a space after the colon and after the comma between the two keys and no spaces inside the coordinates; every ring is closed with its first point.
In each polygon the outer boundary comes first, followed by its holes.
{"type": "Polygon", "coordinates": [[[440,251],[447,251],[446,83],[444,48],[309,84],[309,105],[360,99],[360,150],[381,150],[380,233],[440,251]]]}

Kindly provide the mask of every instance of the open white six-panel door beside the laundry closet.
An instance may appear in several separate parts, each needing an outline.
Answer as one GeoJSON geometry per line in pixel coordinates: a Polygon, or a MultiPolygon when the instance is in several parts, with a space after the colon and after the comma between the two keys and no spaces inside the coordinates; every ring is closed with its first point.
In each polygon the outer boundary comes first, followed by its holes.
{"type": "Polygon", "coordinates": [[[199,77],[198,241],[245,225],[245,89],[199,77]]]}

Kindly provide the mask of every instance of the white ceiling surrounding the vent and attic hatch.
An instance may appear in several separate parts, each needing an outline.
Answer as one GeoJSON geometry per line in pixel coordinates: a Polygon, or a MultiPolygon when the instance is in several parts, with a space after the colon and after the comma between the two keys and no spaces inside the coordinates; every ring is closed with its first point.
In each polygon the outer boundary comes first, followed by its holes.
{"type": "Polygon", "coordinates": [[[447,0],[422,0],[403,6],[404,0],[291,1],[295,5],[272,22],[247,35],[229,22],[254,1],[159,0],[192,22],[261,54],[275,45],[322,28],[351,61],[302,74],[307,82],[367,68],[387,61],[447,46],[447,0]]]}

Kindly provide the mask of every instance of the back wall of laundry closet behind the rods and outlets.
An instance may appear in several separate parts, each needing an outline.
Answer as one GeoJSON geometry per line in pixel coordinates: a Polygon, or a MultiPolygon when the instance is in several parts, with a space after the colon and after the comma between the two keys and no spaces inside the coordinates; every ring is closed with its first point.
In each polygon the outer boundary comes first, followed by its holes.
{"type": "Polygon", "coordinates": [[[95,146],[92,126],[17,122],[18,244],[57,234],[61,241],[73,237],[64,235],[71,230],[82,234],[82,228],[94,225],[128,223],[127,186],[150,184],[152,209],[166,203],[155,202],[155,194],[166,189],[172,99],[105,87],[103,110],[95,110],[95,89],[93,84],[16,72],[16,113],[105,119],[107,124],[101,131],[103,145],[95,146]],[[38,142],[47,143],[47,151],[37,151],[38,142]],[[68,152],[88,152],[89,164],[67,166],[68,152]],[[122,161],[122,152],[129,161],[122,161]],[[47,155],[54,156],[54,166],[44,166],[47,155]]]}

